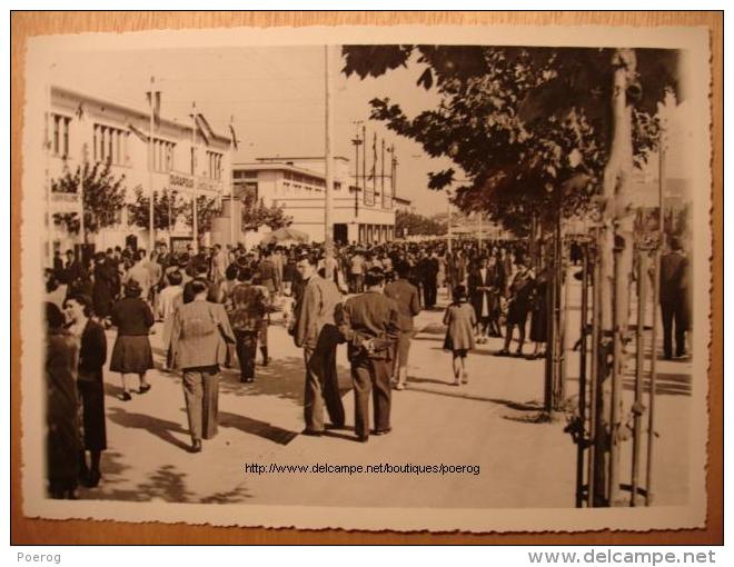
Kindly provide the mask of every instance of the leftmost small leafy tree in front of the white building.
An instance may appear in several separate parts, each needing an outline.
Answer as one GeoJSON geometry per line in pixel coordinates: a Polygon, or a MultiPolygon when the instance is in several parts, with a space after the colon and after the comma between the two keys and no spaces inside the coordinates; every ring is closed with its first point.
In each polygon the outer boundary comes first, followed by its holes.
{"type": "MultiPolygon", "coordinates": [[[[83,188],[85,235],[97,233],[117,223],[118,211],[125,206],[125,176],[116,177],[110,161],[90,165],[85,161],[71,171],[65,165],[63,173],[51,180],[51,191],[78,193],[83,188]]],[[[79,232],[80,219],[76,212],[56,213],[54,222],[66,225],[69,232],[79,232]]]]}

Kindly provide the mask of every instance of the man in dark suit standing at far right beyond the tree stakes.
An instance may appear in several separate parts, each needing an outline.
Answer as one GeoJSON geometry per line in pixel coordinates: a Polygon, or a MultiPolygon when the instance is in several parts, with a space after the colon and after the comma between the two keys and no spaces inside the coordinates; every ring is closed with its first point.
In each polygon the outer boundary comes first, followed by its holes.
{"type": "Polygon", "coordinates": [[[686,295],[688,286],[688,259],[681,242],[671,238],[671,251],[661,258],[661,312],[663,316],[663,354],[673,358],[673,325],[675,324],[675,356],[685,356],[687,328],[686,295]]]}

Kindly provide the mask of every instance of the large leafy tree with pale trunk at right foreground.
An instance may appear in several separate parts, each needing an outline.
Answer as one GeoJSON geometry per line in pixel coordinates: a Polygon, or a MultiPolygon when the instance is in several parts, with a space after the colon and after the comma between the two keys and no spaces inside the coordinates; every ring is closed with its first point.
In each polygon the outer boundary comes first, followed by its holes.
{"type": "MultiPolygon", "coordinates": [[[[399,106],[375,99],[373,118],[462,167],[470,180],[457,191],[463,209],[485,209],[500,221],[550,215],[556,242],[562,215],[589,203],[597,209],[602,329],[589,490],[592,505],[614,504],[634,232],[631,178],[656,147],[658,105],[668,89],[677,90],[677,51],[350,46],[344,57],[344,72],[361,78],[407,66],[411,57],[423,66],[417,83],[435,84],[438,108],[409,119],[399,106]]],[[[453,180],[453,169],[432,173],[429,187],[453,180]]]]}

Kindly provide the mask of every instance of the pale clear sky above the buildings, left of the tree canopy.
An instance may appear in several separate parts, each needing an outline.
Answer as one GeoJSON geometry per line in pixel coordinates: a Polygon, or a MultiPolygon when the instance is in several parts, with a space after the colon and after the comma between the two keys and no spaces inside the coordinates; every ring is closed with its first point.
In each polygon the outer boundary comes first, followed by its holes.
{"type": "MultiPolygon", "coordinates": [[[[419,145],[369,120],[369,100],[375,97],[400,103],[408,117],[436,106],[436,92],[416,84],[421,66],[413,60],[407,68],[377,79],[360,80],[354,74],[347,79],[340,72],[344,61],[337,49],[334,53],[335,153],[349,158],[354,167],[351,139],[361,129],[356,122],[361,121],[367,126],[368,140],[377,132],[388,147],[396,147],[398,197],[410,199],[425,215],[444,211],[446,193],[428,189],[427,175],[452,167],[450,160],[433,159],[419,145]]],[[[48,76],[52,84],[141,110],[147,109],[145,93],[155,77],[163,118],[187,121],[194,101],[219,133],[227,135],[234,118],[239,140],[236,161],[325,153],[323,47],[59,50],[48,76]]]]}

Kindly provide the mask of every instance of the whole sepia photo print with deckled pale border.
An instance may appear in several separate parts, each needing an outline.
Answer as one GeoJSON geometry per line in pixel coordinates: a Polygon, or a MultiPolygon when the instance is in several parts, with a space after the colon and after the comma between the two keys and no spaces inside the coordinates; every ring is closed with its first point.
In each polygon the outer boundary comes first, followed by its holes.
{"type": "Polygon", "coordinates": [[[706,518],[708,36],[31,38],[23,514],[706,518]]]}

